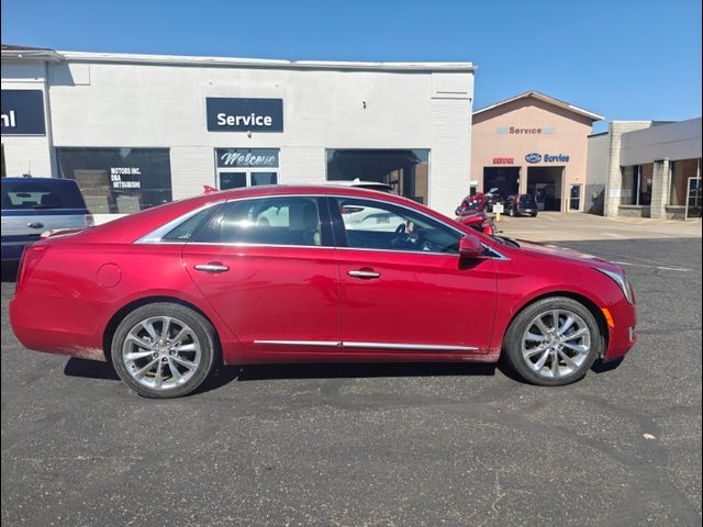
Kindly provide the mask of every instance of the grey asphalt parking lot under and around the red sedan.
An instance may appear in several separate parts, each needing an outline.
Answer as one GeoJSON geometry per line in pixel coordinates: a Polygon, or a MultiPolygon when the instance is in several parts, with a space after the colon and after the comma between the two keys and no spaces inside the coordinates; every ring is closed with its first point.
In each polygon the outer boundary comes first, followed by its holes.
{"type": "Polygon", "coordinates": [[[640,321],[620,367],[559,389],[488,366],[271,366],[149,401],[22,348],[3,281],[2,523],[700,525],[701,239],[561,245],[623,262],[640,321]]]}

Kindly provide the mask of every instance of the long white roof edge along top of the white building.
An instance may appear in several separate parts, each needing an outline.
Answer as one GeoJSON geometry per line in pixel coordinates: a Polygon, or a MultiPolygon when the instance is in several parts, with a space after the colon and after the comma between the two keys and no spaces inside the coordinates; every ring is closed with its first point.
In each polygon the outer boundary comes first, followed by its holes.
{"type": "Polygon", "coordinates": [[[115,63],[115,64],[153,64],[172,66],[230,66],[246,68],[289,68],[289,69],[357,69],[380,71],[462,71],[476,69],[472,63],[412,61],[412,63],[373,63],[339,60],[284,60],[269,58],[243,57],[200,57],[183,55],[143,55],[129,53],[92,53],[70,51],[14,51],[3,49],[2,58],[14,59],[58,59],[74,63],[115,63]]]}

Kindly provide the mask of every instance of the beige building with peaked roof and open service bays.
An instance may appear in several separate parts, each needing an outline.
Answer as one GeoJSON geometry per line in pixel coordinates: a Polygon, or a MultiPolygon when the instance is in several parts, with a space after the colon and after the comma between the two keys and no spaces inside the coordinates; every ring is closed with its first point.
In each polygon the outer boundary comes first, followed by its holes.
{"type": "Polygon", "coordinates": [[[533,194],[540,210],[584,210],[588,137],[601,115],[528,91],[472,117],[471,192],[496,188],[533,194]]]}

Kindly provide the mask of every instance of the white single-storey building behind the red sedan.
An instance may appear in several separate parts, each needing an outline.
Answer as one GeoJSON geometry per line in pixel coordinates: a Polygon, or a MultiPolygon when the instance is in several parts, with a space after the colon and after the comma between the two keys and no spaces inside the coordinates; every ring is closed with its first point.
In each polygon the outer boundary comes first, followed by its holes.
{"type": "Polygon", "coordinates": [[[451,213],[473,69],[2,46],[2,175],[76,179],[97,214],[355,178],[451,213]]]}

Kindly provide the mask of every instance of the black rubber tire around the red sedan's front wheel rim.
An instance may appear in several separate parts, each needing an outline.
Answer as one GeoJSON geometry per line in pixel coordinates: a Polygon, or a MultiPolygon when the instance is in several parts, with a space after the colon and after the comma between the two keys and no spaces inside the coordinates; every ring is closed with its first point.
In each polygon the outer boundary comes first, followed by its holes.
{"type": "MultiPolygon", "coordinates": [[[[557,327],[558,327],[558,324],[559,323],[557,323],[556,325],[557,327]]],[[[576,333],[576,332],[572,332],[572,333],[576,333]]],[[[555,338],[558,338],[558,337],[555,336],[555,338]]],[[[579,340],[579,341],[583,341],[583,340],[579,340]]],[[[571,341],[570,344],[574,344],[574,341],[571,341]]],[[[542,343],[540,346],[543,345],[549,346],[548,343],[542,343]]],[[[593,366],[593,362],[595,361],[595,359],[601,356],[601,351],[603,350],[604,345],[605,345],[605,339],[601,334],[601,328],[595,317],[589,311],[588,307],[585,307],[583,304],[581,304],[580,302],[573,299],[569,299],[566,296],[551,296],[551,298],[539,300],[528,305],[522,312],[520,312],[517,316],[515,316],[510,327],[507,328],[507,332],[505,333],[505,338],[503,339],[503,357],[507,361],[509,366],[513,369],[513,371],[515,371],[526,382],[531,384],[537,384],[540,386],[560,386],[565,384],[571,384],[572,382],[577,382],[583,379],[583,377],[587,374],[589,369],[593,366]],[[523,336],[525,332],[527,332],[527,329],[531,329],[529,332],[531,335],[533,333],[537,333],[535,332],[535,325],[533,324],[533,321],[535,321],[542,314],[545,314],[544,316],[548,317],[555,311],[558,313],[557,318],[559,321],[561,321],[561,318],[559,317],[559,313],[561,313],[565,316],[565,319],[568,318],[568,316],[570,316],[569,314],[576,314],[577,317],[580,318],[580,322],[578,324],[579,325],[584,324],[585,327],[588,328],[590,346],[589,346],[588,352],[584,352],[582,355],[571,351],[568,348],[566,349],[566,351],[563,351],[563,347],[559,348],[560,349],[559,352],[566,352],[567,355],[573,354],[573,356],[570,358],[571,359],[577,358],[577,360],[582,362],[580,362],[578,369],[573,369],[573,371],[571,372],[568,372],[569,370],[568,365],[563,362],[565,371],[567,371],[567,373],[557,378],[547,378],[545,375],[549,373],[548,370],[549,370],[549,366],[553,363],[553,357],[558,357],[557,370],[559,371],[561,371],[560,365],[562,363],[563,359],[558,355],[557,351],[554,351],[554,354],[549,351],[549,355],[547,356],[548,357],[547,363],[545,363],[544,367],[542,367],[538,370],[539,371],[538,373],[537,370],[534,370],[528,365],[528,362],[531,362],[531,359],[525,358],[523,356],[523,336]]],[[[532,348],[532,349],[537,349],[537,348],[532,348]]],[[[544,356],[544,355],[547,355],[547,350],[538,351],[537,355],[535,355],[534,357],[544,356]]],[[[536,362],[539,362],[538,358],[536,362]]],[[[531,362],[531,363],[533,367],[537,366],[534,362],[531,362]]]]}

